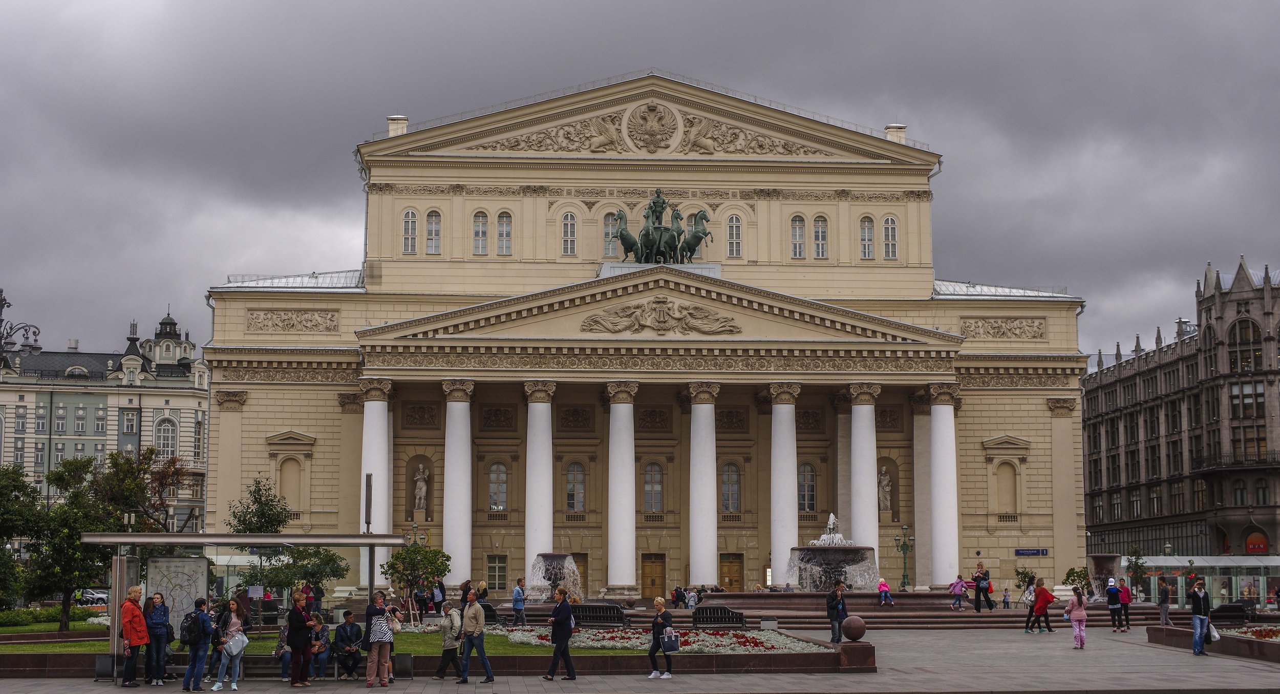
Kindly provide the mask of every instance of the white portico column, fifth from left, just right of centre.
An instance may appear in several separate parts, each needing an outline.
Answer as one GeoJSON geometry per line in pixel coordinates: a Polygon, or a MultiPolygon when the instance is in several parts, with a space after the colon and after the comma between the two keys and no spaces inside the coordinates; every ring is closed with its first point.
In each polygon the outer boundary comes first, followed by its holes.
{"type": "Polygon", "coordinates": [[[719,583],[716,484],[716,396],[718,383],[689,384],[689,583],[719,583]]]}

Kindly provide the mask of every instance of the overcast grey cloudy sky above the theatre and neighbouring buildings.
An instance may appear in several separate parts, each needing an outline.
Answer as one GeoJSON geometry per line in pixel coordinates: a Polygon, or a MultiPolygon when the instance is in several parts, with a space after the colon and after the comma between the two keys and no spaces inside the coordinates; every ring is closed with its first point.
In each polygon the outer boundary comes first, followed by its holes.
{"type": "Polygon", "coordinates": [[[945,156],[943,279],[1068,286],[1080,347],[1151,346],[1206,261],[1280,265],[1275,3],[5,3],[0,287],[61,348],[228,273],[357,268],[351,151],[658,67],[945,156]]]}

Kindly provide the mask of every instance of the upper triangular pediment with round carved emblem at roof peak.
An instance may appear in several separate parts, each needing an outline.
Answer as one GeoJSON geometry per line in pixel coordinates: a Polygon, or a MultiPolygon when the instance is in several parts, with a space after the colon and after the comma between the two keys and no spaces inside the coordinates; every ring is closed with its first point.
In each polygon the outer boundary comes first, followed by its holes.
{"type": "Polygon", "coordinates": [[[929,165],[938,159],[831,119],[808,118],[658,74],[445,120],[366,142],[360,146],[361,155],[751,157],[929,165]]]}

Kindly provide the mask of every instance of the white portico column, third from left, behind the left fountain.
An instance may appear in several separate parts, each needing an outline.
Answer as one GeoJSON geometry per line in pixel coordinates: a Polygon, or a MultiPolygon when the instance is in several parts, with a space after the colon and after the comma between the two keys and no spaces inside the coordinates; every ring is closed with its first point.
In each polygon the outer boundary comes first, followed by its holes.
{"type": "Polygon", "coordinates": [[[554,380],[526,380],[529,435],[525,439],[525,575],[534,575],[534,560],[552,551],[552,394],[554,380]]]}

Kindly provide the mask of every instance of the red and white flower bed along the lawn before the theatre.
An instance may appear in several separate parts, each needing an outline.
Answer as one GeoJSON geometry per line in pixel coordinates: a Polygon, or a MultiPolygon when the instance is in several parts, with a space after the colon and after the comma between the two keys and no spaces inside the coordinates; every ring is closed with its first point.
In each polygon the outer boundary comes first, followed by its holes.
{"type": "MultiPolygon", "coordinates": [[[[511,643],[550,645],[548,627],[486,629],[504,633],[511,643]]],[[[792,639],[777,631],[676,631],[681,653],[819,653],[827,648],[792,639]]],[[[584,629],[570,639],[571,648],[648,650],[653,634],[648,629],[584,629]]]]}

